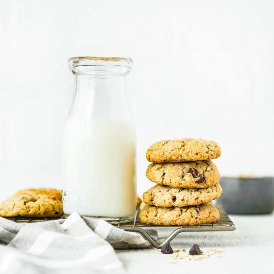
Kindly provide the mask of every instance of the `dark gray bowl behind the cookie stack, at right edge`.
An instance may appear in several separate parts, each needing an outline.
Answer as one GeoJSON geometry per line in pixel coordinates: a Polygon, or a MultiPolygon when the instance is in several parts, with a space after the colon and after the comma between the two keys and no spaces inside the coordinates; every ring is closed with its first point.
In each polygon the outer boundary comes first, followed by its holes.
{"type": "Polygon", "coordinates": [[[229,214],[270,214],[274,210],[274,177],[221,177],[218,199],[229,214]]]}

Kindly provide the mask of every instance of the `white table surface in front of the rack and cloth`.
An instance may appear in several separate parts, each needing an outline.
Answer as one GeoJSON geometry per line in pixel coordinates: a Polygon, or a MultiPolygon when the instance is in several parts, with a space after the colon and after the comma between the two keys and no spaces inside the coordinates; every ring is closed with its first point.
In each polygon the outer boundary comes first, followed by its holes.
{"type": "MultiPolygon", "coordinates": [[[[121,250],[117,254],[130,274],[274,274],[274,214],[230,218],[236,225],[235,231],[185,232],[171,242],[172,248],[187,251],[193,244],[198,244],[203,252],[212,248],[223,250],[216,258],[187,261],[151,250],[121,250]]],[[[160,231],[161,240],[168,233],[168,229],[160,231]]]]}

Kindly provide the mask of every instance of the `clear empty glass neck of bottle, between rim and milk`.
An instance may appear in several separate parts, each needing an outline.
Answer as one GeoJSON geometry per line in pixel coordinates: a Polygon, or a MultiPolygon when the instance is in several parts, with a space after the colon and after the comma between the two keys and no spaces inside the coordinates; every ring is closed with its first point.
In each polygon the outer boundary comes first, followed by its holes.
{"type": "Polygon", "coordinates": [[[126,98],[126,77],[77,75],[69,116],[131,119],[126,98]]]}

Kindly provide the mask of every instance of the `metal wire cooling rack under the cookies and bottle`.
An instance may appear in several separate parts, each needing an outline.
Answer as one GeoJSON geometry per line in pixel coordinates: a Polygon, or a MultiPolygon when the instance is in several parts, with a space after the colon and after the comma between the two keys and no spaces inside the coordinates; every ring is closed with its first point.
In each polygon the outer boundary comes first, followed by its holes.
{"type": "MultiPolygon", "coordinates": [[[[158,226],[158,225],[145,225],[142,224],[138,218],[139,210],[137,209],[135,218],[132,222],[128,223],[118,223],[113,224],[114,226],[124,229],[125,231],[133,231],[140,233],[153,247],[160,249],[166,243],[169,243],[173,240],[178,234],[182,232],[205,232],[205,231],[233,231],[236,229],[234,223],[230,220],[227,213],[223,209],[221,205],[215,205],[215,207],[220,212],[220,220],[214,224],[206,224],[206,225],[197,225],[197,226],[158,226]],[[171,234],[162,242],[157,243],[153,235],[151,234],[151,230],[157,231],[157,228],[170,228],[172,229],[171,234]]],[[[64,219],[61,218],[6,218],[16,223],[37,223],[44,221],[53,221],[64,219]]]]}

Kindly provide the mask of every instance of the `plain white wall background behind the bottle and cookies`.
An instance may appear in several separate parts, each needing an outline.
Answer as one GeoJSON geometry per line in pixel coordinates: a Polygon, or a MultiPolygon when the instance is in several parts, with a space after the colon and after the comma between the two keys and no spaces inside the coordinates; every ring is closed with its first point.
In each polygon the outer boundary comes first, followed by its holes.
{"type": "Polygon", "coordinates": [[[222,175],[274,175],[274,1],[0,0],[0,199],[62,188],[72,56],[131,57],[137,187],[146,148],[201,137],[222,175]]]}

